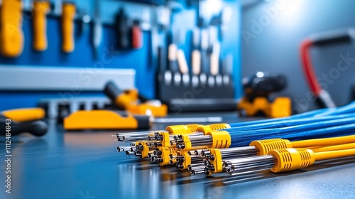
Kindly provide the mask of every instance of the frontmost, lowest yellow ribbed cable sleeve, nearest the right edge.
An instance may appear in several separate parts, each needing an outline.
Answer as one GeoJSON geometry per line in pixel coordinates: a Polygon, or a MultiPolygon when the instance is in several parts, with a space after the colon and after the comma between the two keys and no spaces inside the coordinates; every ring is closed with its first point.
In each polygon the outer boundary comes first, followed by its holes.
{"type": "Polygon", "coordinates": [[[277,158],[277,166],[271,168],[274,173],[293,171],[315,163],[315,153],[310,149],[276,149],[270,151],[268,155],[277,158]]]}

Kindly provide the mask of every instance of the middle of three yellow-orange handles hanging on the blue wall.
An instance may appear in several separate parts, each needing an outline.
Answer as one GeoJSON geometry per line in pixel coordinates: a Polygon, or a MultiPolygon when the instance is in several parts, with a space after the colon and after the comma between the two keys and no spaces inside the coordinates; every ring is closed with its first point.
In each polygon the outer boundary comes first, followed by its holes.
{"type": "Polygon", "coordinates": [[[50,11],[49,1],[34,1],[33,11],[33,49],[43,51],[48,47],[45,16],[50,11]]]}

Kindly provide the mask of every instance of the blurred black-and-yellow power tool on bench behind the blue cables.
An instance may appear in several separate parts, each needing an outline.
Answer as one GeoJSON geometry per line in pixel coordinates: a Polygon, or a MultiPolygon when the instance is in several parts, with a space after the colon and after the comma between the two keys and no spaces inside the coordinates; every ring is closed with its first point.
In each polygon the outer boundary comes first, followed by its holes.
{"type": "Polygon", "coordinates": [[[269,75],[265,72],[256,72],[251,77],[243,80],[246,94],[238,104],[241,114],[255,116],[259,113],[267,117],[288,117],[291,115],[291,99],[289,97],[277,97],[271,101],[269,95],[286,87],[286,79],[283,75],[269,75]]]}

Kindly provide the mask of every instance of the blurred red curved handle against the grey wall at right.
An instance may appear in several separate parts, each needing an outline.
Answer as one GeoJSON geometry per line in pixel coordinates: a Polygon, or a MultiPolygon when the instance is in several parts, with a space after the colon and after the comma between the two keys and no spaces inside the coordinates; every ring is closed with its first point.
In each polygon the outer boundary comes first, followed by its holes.
{"type": "Polygon", "coordinates": [[[306,39],[305,41],[302,41],[300,54],[301,54],[302,67],[303,70],[305,71],[306,79],[308,84],[310,85],[310,89],[315,95],[319,96],[322,88],[320,87],[320,84],[317,81],[317,76],[315,75],[315,70],[313,70],[313,66],[312,66],[312,60],[310,57],[310,50],[309,50],[312,44],[313,42],[310,39],[306,39]]]}

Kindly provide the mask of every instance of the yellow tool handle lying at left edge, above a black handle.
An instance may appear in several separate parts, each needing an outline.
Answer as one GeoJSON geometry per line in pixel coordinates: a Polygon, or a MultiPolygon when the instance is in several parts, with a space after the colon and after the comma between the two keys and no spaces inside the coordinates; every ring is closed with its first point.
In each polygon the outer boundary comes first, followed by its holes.
{"type": "Polygon", "coordinates": [[[11,109],[1,112],[1,114],[15,122],[26,122],[45,117],[45,111],[41,108],[11,109]]]}

